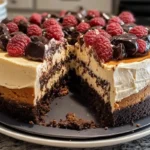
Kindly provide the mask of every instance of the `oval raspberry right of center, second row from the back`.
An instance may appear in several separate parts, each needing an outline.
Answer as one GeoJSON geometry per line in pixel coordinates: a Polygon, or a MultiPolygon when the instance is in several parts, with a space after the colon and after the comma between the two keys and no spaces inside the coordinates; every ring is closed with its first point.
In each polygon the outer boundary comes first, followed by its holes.
{"type": "Polygon", "coordinates": [[[96,17],[90,20],[90,25],[93,26],[105,26],[106,22],[101,17],[96,17]]]}

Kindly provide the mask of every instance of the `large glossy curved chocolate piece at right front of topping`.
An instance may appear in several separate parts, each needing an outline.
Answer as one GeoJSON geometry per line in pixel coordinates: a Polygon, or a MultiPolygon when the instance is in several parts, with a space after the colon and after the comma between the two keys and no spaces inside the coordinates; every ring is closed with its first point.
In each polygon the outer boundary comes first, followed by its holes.
{"type": "Polygon", "coordinates": [[[137,37],[133,34],[122,34],[114,36],[111,40],[111,43],[117,46],[120,43],[124,44],[127,57],[133,57],[138,51],[137,37]]]}

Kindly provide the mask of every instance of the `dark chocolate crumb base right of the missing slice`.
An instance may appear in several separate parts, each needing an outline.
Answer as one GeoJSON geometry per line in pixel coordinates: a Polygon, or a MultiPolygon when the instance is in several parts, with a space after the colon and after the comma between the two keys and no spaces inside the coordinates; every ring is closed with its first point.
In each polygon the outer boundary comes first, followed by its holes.
{"type": "Polygon", "coordinates": [[[70,74],[73,77],[73,83],[70,84],[71,91],[78,93],[81,97],[80,100],[96,112],[100,126],[120,126],[150,115],[149,96],[140,102],[112,112],[110,103],[105,103],[103,97],[91,88],[85,80],[77,76],[75,71],[71,71],[70,74]]]}

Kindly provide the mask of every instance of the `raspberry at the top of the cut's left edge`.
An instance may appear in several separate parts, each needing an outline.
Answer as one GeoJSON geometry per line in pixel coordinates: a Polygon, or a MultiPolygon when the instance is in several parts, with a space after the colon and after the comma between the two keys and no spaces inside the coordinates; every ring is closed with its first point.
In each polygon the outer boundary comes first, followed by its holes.
{"type": "Polygon", "coordinates": [[[64,33],[59,25],[51,25],[49,28],[46,29],[46,37],[48,39],[54,38],[60,41],[63,39],[64,33]]]}

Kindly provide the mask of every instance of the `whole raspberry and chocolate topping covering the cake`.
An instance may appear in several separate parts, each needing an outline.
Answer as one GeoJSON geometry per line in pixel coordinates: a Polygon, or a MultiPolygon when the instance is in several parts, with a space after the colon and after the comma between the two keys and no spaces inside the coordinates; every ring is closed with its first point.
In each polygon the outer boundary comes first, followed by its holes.
{"type": "Polygon", "coordinates": [[[113,16],[83,8],[57,15],[16,16],[0,24],[0,49],[11,57],[43,61],[45,46],[51,39],[64,44],[67,40],[70,45],[79,42],[92,48],[97,60],[107,65],[142,61],[149,58],[150,31],[135,22],[128,11],[113,16]]]}

